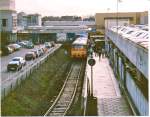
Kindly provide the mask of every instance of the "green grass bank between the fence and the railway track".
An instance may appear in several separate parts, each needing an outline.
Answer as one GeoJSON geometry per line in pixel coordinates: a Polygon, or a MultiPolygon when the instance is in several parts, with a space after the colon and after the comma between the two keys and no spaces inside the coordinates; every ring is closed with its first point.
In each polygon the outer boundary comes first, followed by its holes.
{"type": "Polygon", "coordinates": [[[71,59],[63,47],[22,82],[1,103],[3,116],[41,116],[58,95],[71,59]]]}

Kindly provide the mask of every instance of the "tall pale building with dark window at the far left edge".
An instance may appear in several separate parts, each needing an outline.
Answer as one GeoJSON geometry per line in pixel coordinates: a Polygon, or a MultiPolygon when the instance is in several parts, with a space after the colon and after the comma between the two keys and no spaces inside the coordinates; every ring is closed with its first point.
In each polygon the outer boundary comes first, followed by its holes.
{"type": "Polygon", "coordinates": [[[15,0],[0,1],[0,32],[1,43],[6,44],[17,40],[17,14],[15,0]]]}

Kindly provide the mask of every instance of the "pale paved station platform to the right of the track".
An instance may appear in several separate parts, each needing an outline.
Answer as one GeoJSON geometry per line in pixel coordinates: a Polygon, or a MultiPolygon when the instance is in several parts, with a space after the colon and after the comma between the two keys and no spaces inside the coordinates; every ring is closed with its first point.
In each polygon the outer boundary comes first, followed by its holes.
{"type": "MultiPolygon", "coordinates": [[[[97,98],[98,116],[131,116],[131,110],[121,95],[118,82],[107,58],[93,57],[93,95],[97,98]]],[[[87,66],[87,75],[91,76],[91,67],[87,66]]]]}

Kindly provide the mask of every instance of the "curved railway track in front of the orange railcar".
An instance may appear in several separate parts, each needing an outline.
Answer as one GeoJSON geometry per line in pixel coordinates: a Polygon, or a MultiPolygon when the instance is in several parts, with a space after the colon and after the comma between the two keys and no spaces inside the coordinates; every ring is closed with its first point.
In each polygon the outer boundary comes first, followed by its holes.
{"type": "Polygon", "coordinates": [[[81,69],[81,62],[72,64],[59,95],[44,116],[64,116],[67,114],[76,94],[81,69]]]}

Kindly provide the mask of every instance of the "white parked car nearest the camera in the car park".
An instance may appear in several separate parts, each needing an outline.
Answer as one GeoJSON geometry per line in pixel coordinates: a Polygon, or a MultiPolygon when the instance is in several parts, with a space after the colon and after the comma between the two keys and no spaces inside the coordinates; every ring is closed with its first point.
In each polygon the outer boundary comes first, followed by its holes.
{"type": "Polygon", "coordinates": [[[13,58],[7,65],[7,71],[19,71],[22,68],[20,59],[13,58]]]}

